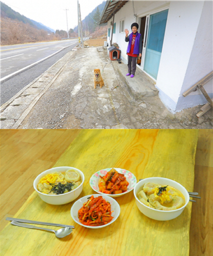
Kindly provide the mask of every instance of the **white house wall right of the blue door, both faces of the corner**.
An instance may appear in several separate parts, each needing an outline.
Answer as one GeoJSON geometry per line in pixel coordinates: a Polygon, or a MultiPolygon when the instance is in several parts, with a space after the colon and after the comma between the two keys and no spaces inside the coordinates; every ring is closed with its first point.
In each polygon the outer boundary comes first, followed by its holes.
{"type": "MultiPolygon", "coordinates": [[[[190,94],[185,98],[182,93],[212,70],[212,64],[208,67],[205,64],[212,56],[212,47],[209,47],[212,30],[204,25],[207,20],[204,17],[209,16],[209,11],[201,1],[170,2],[156,87],[161,101],[172,111],[207,102],[199,91],[196,92],[197,96],[190,94]],[[205,34],[205,38],[202,34],[205,34]]],[[[210,90],[209,87],[207,89],[210,90]]]]}

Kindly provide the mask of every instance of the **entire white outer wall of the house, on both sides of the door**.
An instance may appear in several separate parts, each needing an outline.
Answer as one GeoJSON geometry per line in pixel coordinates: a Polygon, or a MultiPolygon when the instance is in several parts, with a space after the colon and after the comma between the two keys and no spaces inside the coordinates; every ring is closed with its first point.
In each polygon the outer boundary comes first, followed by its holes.
{"type": "MultiPolygon", "coordinates": [[[[212,70],[212,2],[129,1],[115,14],[116,33],[112,43],[118,43],[121,59],[127,63],[128,43],[125,33],[119,32],[120,21],[124,19],[124,28],[131,32],[131,24],[140,17],[165,8],[169,11],[156,87],[164,105],[176,112],[207,102],[198,90],[185,98],[182,93],[212,70]]],[[[108,21],[110,29],[111,21],[108,21]]],[[[204,88],[212,97],[212,80],[204,88]]]]}

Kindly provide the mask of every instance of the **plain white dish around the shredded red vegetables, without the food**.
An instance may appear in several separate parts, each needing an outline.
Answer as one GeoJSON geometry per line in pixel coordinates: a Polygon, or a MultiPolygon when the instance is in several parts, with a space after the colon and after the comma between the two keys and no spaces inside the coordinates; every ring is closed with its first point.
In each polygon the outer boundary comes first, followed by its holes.
{"type": "Polygon", "coordinates": [[[88,201],[88,198],[90,198],[91,196],[94,196],[94,197],[98,197],[100,196],[99,194],[93,194],[93,195],[89,195],[89,196],[84,196],[80,199],[78,199],[74,204],[73,206],[71,207],[71,216],[73,218],[73,220],[78,223],[79,225],[85,227],[85,228],[93,228],[93,229],[96,229],[96,228],[104,228],[106,226],[109,226],[110,224],[112,224],[114,221],[116,221],[116,219],[118,218],[118,216],[120,215],[120,205],[118,204],[118,202],[116,200],[114,200],[113,198],[109,197],[109,196],[106,196],[106,195],[102,195],[102,197],[108,201],[110,204],[111,204],[111,211],[112,212],[112,217],[113,219],[105,224],[105,225],[102,225],[102,226],[86,226],[84,224],[82,224],[79,219],[78,219],[78,211],[80,210],[80,208],[83,206],[83,203],[85,203],[86,201],[88,201]]]}

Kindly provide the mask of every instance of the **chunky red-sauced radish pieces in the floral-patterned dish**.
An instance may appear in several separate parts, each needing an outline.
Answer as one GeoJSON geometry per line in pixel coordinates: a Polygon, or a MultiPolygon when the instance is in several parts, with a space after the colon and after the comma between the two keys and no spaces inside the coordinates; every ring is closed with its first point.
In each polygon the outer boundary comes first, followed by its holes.
{"type": "Polygon", "coordinates": [[[123,173],[118,173],[116,169],[112,168],[103,177],[100,176],[98,186],[99,190],[105,194],[121,194],[127,191],[129,182],[123,173]]]}

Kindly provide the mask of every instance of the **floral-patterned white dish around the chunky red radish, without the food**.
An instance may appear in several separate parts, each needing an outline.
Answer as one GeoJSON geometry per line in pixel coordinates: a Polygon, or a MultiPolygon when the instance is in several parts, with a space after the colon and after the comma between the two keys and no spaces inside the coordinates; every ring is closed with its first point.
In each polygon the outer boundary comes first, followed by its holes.
{"type": "Polygon", "coordinates": [[[107,196],[111,196],[111,197],[118,197],[118,196],[123,196],[123,195],[129,193],[130,191],[132,191],[134,189],[134,187],[137,183],[135,175],[133,173],[131,173],[130,171],[127,171],[125,169],[114,168],[114,169],[116,169],[116,171],[118,171],[118,173],[123,173],[124,176],[126,177],[126,180],[129,182],[129,185],[127,186],[127,191],[125,191],[121,194],[105,194],[105,193],[102,193],[99,190],[99,187],[98,187],[98,181],[100,179],[100,175],[103,177],[111,169],[112,168],[103,169],[103,170],[97,171],[96,173],[94,173],[92,175],[92,177],[90,178],[90,186],[93,190],[95,190],[95,192],[97,192],[101,195],[107,195],[107,196]]]}

